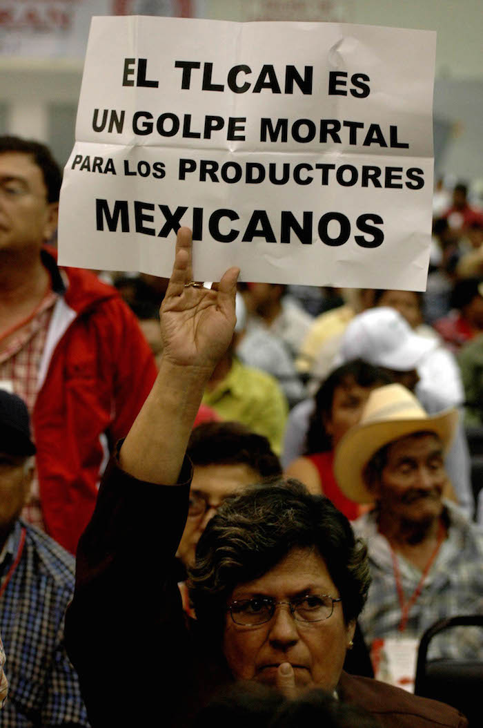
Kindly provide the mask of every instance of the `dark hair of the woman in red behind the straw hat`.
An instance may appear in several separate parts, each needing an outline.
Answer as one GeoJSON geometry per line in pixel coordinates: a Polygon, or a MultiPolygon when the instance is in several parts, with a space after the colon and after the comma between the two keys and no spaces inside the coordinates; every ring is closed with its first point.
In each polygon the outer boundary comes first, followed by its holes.
{"type": "Polygon", "coordinates": [[[367,364],[362,359],[343,364],[322,382],[314,397],[315,408],[308,420],[305,454],[332,450],[332,438],[327,434],[324,420],[332,416],[335,389],[355,382],[359,387],[391,384],[392,379],[382,368],[367,364]]]}

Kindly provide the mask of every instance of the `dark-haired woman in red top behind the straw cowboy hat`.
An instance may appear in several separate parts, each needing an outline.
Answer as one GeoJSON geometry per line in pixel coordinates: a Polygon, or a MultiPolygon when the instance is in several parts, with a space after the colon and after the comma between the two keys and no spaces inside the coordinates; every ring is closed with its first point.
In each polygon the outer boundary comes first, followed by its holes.
{"type": "Polygon", "coordinates": [[[330,498],[349,520],[357,518],[361,508],[340,491],[332,470],[334,449],[347,430],[359,422],[372,389],[390,381],[382,370],[360,359],[335,369],[314,397],[306,454],[285,471],[287,477],[301,480],[311,493],[330,498]]]}

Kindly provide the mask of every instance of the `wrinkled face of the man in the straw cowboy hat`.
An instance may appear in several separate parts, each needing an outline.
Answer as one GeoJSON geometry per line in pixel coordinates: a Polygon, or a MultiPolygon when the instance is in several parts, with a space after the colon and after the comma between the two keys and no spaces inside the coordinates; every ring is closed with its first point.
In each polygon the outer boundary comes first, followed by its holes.
{"type": "Polygon", "coordinates": [[[431,523],[442,513],[447,483],[442,443],[433,433],[410,435],[388,448],[375,486],[381,510],[410,523],[431,523]]]}

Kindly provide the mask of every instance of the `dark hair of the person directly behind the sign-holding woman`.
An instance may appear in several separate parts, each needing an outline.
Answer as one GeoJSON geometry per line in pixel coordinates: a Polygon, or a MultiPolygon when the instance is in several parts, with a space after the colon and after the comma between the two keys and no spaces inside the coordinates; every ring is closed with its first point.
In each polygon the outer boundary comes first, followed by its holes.
{"type": "Polygon", "coordinates": [[[194,465],[248,465],[260,478],[282,475],[270,443],[240,422],[205,422],[191,432],[186,454],[194,465]]]}

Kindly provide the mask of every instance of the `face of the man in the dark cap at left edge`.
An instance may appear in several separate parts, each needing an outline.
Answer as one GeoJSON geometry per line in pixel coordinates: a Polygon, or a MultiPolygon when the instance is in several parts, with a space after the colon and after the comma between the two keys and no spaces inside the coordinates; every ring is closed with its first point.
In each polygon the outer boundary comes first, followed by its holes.
{"type": "Polygon", "coordinates": [[[32,469],[24,456],[0,452],[0,535],[6,534],[27,502],[32,469]]]}

